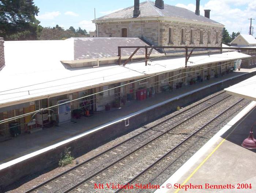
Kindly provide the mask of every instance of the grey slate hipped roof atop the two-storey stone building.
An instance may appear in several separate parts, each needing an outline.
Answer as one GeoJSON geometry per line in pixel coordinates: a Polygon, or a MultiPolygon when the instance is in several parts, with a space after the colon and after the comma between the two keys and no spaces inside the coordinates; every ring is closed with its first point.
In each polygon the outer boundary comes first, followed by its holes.
{"type": "MultiPolygon", "coordinates": [[[[97,20],[107,20],[107,19],[128,19],[133,18],[133,10],[134,6],[127,7],[123,10],[116,11],[114,13],[102,16],[97,18],[97,20]]],[[[204,23],[212,23],[219,24],[221,23],[215,22],[214,20],[208,19],[202,15],[196,15],[193,11],[187,10],[185,8],[176,7],[173,5],[165,4],[163,10],[155,7],[154,1],[144,1],[140,3],[140,16],[141,17],[170,17],[170,18],[178,18],[178,19],[187,19],[191,21],[198,21],[204,23]]],[[[138,18],[140,18],[140,16],[138,18]]]]}

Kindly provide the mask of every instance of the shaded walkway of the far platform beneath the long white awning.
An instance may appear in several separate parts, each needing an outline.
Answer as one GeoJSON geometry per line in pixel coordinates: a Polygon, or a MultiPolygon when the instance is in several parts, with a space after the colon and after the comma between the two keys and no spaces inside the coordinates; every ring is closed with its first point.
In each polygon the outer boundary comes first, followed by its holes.
{"type": "MultiPolygon", "coordinates": [[[[255,70],[256,69],[251,69],[250,71],[255,70]]],[[[156,94],[154,97],[148,98],[144,101],[127,102],[127,104],[121,109],[112,109],[111,111],[98,112],[97,115],[92,117],[82,117],[77,119],[76,123],[71,122],[59,127],[55,126],[52,128],[44,129],[36,133],[22,134],[15,139],[0,143],[0,164],[19,158],[23,155],[27,155],[31,152],[41,150],[42,148],[48,147],[49,145],[56,144],[60,141],[96,128],[97,126],[117,120],[120,117],[127,116],[139,110],[156,105],[170,98],[173,98],[174,96],[191,92],[200,87],[207,86],[208,84],[238,76],[242,73],[246,72],[241,70],[239,72],[237,71],[235,73],[230,73],[228,75],[210,79],[202,83],[197,83],[192,86],[184,86],[182,89],[156,94]]]]}

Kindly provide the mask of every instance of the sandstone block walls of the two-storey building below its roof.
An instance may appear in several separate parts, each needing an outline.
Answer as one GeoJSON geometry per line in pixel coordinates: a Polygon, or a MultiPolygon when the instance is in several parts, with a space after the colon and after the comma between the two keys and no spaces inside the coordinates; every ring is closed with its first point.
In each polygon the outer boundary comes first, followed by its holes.
{"type": "Polygon", "coordinates": [[[160,46],[221,46],[222,29],[214,27],[200,27],[188,24],[168,23],[166,21],[142,21],[99,24],[99,37],[121,37],[122,29],[127,28],[128,37],[145,37],[154,45],[158,45],[158,31],[160,46]],[[147,23],[146,23],[147,22],[147,23]],[[169,43],[169,27],[173,29],[173,43],[169,43]],[[181,43],[181,29],[185,29],[185,43],[181,43]],[[190,30],[194,32],[194,43],[190,42],[190,30]],[[203,30],[203,44],[200,44],[200,30],[203,30]],[[211,31],[211,43],[208,43],[208,31],[211,31]],[[216,33],[218,32],[218,43],[216,33]]]}

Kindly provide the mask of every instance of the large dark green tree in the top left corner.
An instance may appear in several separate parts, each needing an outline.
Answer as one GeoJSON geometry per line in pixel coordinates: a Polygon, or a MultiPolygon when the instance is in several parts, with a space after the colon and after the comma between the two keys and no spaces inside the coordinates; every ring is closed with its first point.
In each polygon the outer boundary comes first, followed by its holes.
{"type": "Polygon", "coordinates": [[[35,18],[39,9],[33,0],[0,1],[0,37],[5,40],[35,40],[42,31],[35,18]]]}

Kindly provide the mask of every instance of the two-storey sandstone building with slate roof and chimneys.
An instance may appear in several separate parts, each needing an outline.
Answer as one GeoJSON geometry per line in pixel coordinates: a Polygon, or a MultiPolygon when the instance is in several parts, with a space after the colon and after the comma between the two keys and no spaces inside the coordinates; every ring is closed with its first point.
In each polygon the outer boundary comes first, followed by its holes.
{"type": "Polygon", "coordinates": [[[196,12],[164,4],[163,0],[134,1],[134,6],[93,22],[99,37],[139,37],[158,46],[221,46],[223,24],[210,19],[210,11],[196,12]]]}

